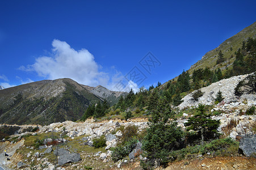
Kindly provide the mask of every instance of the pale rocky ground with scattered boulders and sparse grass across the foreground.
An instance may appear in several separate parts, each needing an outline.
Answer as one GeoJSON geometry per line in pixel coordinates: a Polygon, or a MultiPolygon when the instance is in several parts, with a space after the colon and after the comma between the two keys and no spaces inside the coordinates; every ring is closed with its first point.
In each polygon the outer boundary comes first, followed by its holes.
{"type": "MultiPolygon", "coordinates": [[[[218,130],[223,137],[229,136],[234,140],[240,140],[246,135],[255,134],[256,115],[255,113],[246,115],[245,112],[256,104],[256,95],[237,98],[233,94],[238,81],[245,77],[241,75],[224,79],[202,88],[204,95],[197,102],[191,100],[191,95],[185,96],[184,102],[179,105],[178,115],[180,116],[175,120],[178,126],[184,129],[187,118],[193,116],[194,108],[202,103],[212,105],[209,109],[212,113],[211,118],[220,120],[221,125],[218,130]],[[225,99],[215,105],[213,98],[219,90],[223,92],[225,99]]],[[[111,148],[117,145],[123,135],[119,128],[129,125],[137,126],[137,131],[140,132],[148,127],[148,118],[137,117],[128,121],[119,118],[95,121],[91,118],[85,122],[65,121],[39,126],[39,130],[34,133],[26,132],[11,136],[13,139],[19,139],[22,136],[31,135],[27,138],[30,140],[26,139],[26,142],[23,139],[16,140],[17,142],[15,140],[1,142],[0,163],[13,169],[141,169],[139,160],[144,159],[142,156],[131,159],[129,155],[129,158],[116,163],[111,159],[111,148]],[[106,146],[98,149],[92,147],[93,139],[102,135],[106,136],[106,146]],[[43,137],[43,144],[39,148],[32,146],[35,139],[43,137]],[[61,145],[55,145],[56,143],[61,145]],[[9,156],[3,156],[4,150],[7,150],[9,156]]],[[[22,129],[27,127],[24,126],[22,129]]],[[[254,147],[256,152],[256,143],[254,147]]],[[[243,155],[211,158],[209,155],[174,162],[166,169],[256,169],[255,167],[255,158],[246,158],[243,155]]]]}

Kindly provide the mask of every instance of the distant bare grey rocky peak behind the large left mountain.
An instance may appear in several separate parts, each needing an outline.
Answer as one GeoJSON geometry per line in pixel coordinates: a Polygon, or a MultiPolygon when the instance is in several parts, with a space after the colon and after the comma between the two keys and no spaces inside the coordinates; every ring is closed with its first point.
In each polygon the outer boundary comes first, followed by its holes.
{"type": "Polygon", "coordinates": [[[85,87],[87,90],[89,90],[92,94],[100,97],[100,99],[107,100],[108,103],[110,103],[111,105],[116,104],[119,101],[121,96],[128,95],[127,92],[110,91],[103,86],[97,86],[97,87],[90,87],[85,85],[82,85],[82,86],[85,87]]]}

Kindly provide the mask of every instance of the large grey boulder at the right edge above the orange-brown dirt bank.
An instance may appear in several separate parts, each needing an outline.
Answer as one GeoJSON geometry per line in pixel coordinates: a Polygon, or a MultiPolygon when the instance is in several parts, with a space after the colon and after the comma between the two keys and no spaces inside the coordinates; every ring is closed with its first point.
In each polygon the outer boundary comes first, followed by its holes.
{"type": "Polygon", "coordinates": [[[240,139],[239,149],[244,155],[256,158],[256,135],[240,139]]]}

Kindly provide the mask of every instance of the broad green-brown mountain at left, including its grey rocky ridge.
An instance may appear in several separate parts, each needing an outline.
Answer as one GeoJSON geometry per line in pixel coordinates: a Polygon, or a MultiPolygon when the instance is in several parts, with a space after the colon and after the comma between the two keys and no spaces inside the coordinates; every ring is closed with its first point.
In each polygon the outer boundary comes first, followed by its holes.
{"type": "Polygon", "coordinates": [[[103,99],[115,103],[122,94],[67,78],[22,84],[0,91],[0,124],[47,125],[75,121],[82,117],[90,103],[103,99]]]}

